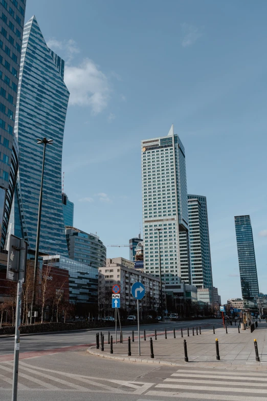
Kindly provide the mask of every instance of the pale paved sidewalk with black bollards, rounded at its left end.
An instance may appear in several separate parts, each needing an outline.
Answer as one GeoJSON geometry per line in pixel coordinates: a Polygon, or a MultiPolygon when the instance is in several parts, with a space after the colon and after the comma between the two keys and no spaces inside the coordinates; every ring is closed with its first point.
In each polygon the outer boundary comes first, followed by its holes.
{"type": "MultiPolygon", "coordinates": [[[[214,368],[230,368],[251,369],[267,371],[267,324],[264,322],[258,323],[258,328],[253,333],[250,330],[240,330],[238,333],[237,326],[228,326],[228,334],[224,328],[218,328],[213,334],[213,330],[203,330],[202,334],[187,336],[187,331],[184,329],[184,337],[181,338],[181,331],[176,330],[176,339],[173,338],[173,332],[167,332],[167,340],[165,334],[158,334],[158,339],[153,340],[154,358],[150,358],[150,337],[147,336],[144,341],[143,336],[140,339],[141,356],[138,355],[138,339],[135,337],[135,342],[131,341],[131,356],[127,356],[128,341],[124,338],[123,344],[113,343],[113,354],[110,354],[110,346],[105,341],[104,351],[101,351],[95,346],[88,348],[87,352],[96,356],[116,358],[125,362],[141,362],[153,363],[160,365],[185,365],[184,362],[184,340],[187,343],[187,352],[190,366],[194,363],[197,367],[214,367],[214,368]],[[219,341],[220,361],[216,361],[215,339],[219,341]],[[256,362],[254,339],[257,339],[260,362],[256,362]]],[[[105,337],[105,340],[107,338],[105,337]]]]}

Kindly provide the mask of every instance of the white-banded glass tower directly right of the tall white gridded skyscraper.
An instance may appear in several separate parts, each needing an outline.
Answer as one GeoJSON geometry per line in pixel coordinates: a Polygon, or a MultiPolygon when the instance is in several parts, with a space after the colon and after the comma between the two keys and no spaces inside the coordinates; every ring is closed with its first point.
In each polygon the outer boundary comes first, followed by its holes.
{"type": "Polygon", "coordinates": [[[212,290],[209,222],[206,196],[188,195],[192,284],[212,290]]]}

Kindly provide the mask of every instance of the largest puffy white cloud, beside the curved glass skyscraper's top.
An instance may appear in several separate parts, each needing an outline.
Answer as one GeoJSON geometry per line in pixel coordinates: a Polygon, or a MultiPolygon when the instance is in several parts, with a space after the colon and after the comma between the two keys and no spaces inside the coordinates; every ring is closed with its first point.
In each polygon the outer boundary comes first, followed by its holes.
{"type": "Polygon", "coordinates": [[[70,104],[89,106],[93,114],[107,106],[109,82],[94,61],[86,58],[78,67],[66,65],[64,81],[71,94],[70,104]]]}

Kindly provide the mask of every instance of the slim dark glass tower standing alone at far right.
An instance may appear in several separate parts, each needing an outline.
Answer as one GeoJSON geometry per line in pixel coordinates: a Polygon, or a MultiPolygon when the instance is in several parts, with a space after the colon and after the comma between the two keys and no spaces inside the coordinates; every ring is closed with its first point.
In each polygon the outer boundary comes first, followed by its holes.
{"type": "Polygon", "coordinates": [[[256,308],[259,295],[257,267],[250,216],[235,216],[238,263],[244,308],[256,308]]]}

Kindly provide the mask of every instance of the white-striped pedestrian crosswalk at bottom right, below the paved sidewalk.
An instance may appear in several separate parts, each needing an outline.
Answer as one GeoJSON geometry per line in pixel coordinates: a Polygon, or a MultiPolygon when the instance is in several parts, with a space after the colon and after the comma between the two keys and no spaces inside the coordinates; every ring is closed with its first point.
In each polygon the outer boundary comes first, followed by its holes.
{"type": "Polygon", "coordinates": [[[164,399],[267,401],[267,372],[178,369],[145,395],[164,399]]]}

